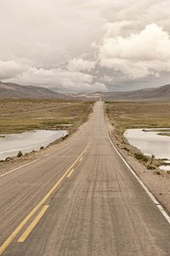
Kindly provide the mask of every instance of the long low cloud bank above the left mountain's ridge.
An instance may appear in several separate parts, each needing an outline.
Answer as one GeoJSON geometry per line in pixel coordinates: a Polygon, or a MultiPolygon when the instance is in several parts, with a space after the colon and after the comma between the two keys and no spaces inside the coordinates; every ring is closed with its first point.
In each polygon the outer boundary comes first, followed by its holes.
{"type": "Polygon", "coordinates": [[[107,91],[105,84],[95,81],[94,76],[61,68],[45,70],[31,67],[26,73],[21,73],[8,81],[25,85],[41,85],[55,90],[107,91]]]}

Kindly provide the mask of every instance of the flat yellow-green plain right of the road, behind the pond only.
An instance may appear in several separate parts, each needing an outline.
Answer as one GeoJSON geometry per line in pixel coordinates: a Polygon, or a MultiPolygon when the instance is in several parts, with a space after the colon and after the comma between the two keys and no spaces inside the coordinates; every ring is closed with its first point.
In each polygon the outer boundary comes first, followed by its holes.
{"type": "Polygon", "coordinates": [[[105,107],[122,133],[130,128],[170,128],[170,103],[105,102],[105,107]]]}

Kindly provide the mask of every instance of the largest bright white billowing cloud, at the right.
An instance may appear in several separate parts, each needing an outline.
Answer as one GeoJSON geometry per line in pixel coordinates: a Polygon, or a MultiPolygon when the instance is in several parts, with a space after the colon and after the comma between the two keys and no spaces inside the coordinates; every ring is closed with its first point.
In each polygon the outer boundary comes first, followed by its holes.
{"type": "MultiPolygon", "coordinates": [[[[111,31],[111,24],[109,30],[111,31]]],[[[99,47],[101,67],[113,68],[136,79],[170,71],[170,39],[160,26],[150,24],[127,38],[106,32],[99,47]]]]}

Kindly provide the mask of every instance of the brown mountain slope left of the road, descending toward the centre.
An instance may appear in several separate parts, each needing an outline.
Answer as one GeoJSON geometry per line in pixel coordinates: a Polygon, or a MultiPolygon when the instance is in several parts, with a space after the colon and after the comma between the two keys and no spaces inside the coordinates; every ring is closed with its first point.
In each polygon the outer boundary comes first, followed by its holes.
{"type": "Polygon", "coordinates": [[[65,99],[67,96],[48,90],[44,87],[31,85],[19,85],[13,83],[0,82],[0,96],[2,97],[29,97],[29,98],[59,98],[65,99]]]}

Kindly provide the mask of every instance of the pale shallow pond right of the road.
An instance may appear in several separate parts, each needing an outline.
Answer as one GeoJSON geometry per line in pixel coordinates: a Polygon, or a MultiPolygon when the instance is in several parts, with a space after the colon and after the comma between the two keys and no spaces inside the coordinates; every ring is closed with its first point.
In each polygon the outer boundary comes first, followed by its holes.
{"type": "Polygon", "coordinates": [[[125,131],[124,137],[131,145],[139,148],[143,154],[155,154],[157,159],[170,160],[170,137],[158,135],[157,133],[162,133],[162,129],[160,130],[128,129],[125,131]]]}

